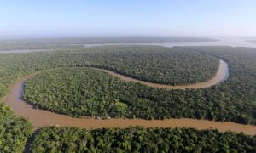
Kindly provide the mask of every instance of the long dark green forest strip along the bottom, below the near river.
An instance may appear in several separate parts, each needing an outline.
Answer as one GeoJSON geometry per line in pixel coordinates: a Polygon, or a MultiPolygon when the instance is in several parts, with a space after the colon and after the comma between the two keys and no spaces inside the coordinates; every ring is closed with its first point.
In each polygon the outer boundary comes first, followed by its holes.
{"type": "Polygon", "coordinates": [[[195,128],[44,127],[31,151],[40,152],[255,152],[256,136],[195,128]]]}

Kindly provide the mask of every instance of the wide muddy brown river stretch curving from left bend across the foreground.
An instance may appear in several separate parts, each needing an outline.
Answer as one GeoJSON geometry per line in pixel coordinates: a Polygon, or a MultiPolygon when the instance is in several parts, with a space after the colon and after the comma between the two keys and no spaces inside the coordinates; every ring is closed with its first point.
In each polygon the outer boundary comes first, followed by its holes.
{"type": "MultiPolygon", "coordinates": [[[[226,75],[226,74],[225,74],[226,75]]],[[[116,74],[114,74],[116,76],[116,74]]],[[[117,76],[118,77],[118,76],[117,76]]],[[[30,120],[35,128],[45,126],[59,127],[81,127],[86,129],[100,127],[195,127],[197,129],[216,128],[221,132],[233,131],[236,133],[246,133],[249,135],[256,134],[256,126],[243,125],[234,122],[213,122],[207,120],[196,119],[166,119],[166,120],[143,120],[143,119],[94,119],[94,118],[73,118],[56,114],[50,111],[34,109],[32,105],[28,105],[22,100],[22,92],[24,91],[24,83],[29,77],[20,79],[11,88],[10,93],[5,98],[5,102],[9,105],[17,116],[24,116],[30,120]]],[[[222,79],[224,77],[221,77],[222,79]]],[[[221,79],[220,79],[221,80],[221,79]]],[[[131,81],[131,80],[128,80],[131,81]]],[[[222,82],[223,80],[221,80],[222,82]]]]}

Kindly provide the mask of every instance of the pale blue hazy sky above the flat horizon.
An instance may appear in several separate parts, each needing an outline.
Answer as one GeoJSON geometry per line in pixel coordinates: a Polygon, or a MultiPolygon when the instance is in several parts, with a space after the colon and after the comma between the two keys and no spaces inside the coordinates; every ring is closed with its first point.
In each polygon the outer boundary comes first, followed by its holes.
{"type": "Polygon", "coordinates": [[[0,0],[0,37],[256,36],[256,0],[0,0]]]}

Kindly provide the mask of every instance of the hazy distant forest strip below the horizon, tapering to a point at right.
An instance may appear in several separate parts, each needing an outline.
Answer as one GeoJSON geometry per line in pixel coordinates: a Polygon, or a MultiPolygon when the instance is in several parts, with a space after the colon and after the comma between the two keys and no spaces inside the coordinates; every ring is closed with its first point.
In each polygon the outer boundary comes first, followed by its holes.
{"type": "Polygon", "coordinates": [[[206,37],[77,37],[58,39],[0,40],[1,50],[84,48],[84,44],[106,43],[167,43],[167,42],[216,42],[206,37]]]}

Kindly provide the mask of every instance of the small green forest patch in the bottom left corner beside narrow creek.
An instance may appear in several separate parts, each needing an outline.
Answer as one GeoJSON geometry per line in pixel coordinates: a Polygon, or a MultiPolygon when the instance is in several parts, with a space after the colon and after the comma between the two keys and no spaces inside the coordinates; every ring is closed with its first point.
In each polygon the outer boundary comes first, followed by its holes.
{"type": "Polygon", "coordinates": [[[30,122],[14,116],[7,105],[0,103],[0,152],[22,152],[32,131],[30,122]]]}

